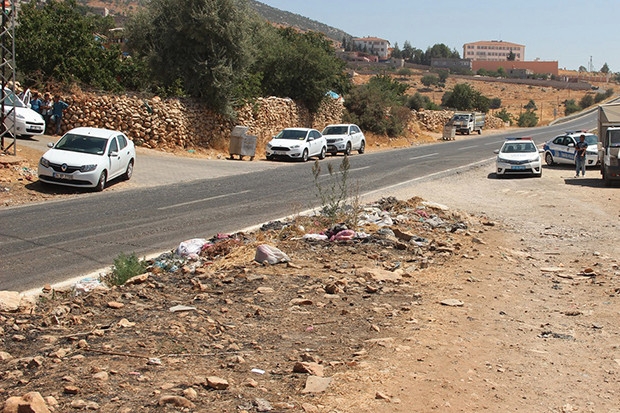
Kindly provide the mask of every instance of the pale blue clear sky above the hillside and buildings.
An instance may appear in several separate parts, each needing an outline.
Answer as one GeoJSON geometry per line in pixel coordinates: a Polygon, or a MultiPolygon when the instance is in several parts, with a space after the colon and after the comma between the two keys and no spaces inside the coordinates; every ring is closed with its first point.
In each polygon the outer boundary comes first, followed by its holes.
{"type": "Polygon", "coordinates": [[[560,69],[620,72],[618,0],[258,0],[343,30],[379,37],[402,49],[503,40],[525,46],[525,60],[560,69]]]}

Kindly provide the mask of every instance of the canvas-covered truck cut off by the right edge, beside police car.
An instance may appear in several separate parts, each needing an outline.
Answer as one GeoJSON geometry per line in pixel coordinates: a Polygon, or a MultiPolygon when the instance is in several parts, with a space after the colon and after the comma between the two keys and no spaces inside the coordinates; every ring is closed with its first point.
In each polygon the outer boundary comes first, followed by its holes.
{"type": "Polygon", "coordinates": [[[620,103],[598,107],[598,159],[605,185],[620,181],[620,103]]]}

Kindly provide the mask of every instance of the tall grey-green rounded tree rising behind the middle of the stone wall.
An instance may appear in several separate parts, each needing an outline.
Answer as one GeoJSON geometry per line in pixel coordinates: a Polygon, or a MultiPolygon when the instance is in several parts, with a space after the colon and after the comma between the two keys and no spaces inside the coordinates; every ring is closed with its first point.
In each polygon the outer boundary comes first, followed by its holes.
{"type": "Polygon", "coordinates": [[[261,36],[256,15],[236,0],[151,0],[128,29],[133,53],[156,82],[180,83],[222,113],[232,112],[255,56],[253,36],[261,36]]]}

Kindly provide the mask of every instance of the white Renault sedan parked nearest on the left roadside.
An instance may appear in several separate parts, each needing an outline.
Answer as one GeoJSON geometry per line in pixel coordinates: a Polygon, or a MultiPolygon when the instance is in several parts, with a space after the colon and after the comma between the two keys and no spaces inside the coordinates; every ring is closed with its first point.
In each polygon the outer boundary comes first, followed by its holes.
{"type": "Polygon", "coordinates": [[[103,191],[112,179],[130,179],[133,174],[136,149],[116,130],[75,128],[48,146],[38,168],[43,183],[103,191]]]}

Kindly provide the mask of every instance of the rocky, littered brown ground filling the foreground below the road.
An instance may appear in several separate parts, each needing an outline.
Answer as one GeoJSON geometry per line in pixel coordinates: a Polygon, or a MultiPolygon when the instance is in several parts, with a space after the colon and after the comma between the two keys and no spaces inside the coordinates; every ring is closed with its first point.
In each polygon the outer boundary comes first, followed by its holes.
{"type": "Polygon", "coordinates": [[[618,188],[492,171],[364,199],[352,239],[205,234],[197,261],[5,308],[5,411],[619,412],[618,188]]]}

